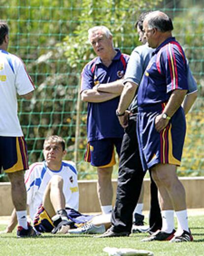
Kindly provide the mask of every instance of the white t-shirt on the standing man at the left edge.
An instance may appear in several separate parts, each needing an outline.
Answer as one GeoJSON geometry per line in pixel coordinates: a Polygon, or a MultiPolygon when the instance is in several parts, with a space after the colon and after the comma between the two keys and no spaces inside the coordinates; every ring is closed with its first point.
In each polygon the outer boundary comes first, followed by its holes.
{"type": "Polygon", "coordinates": [[[0,136],[23,136],[17,115],[16,94],[28,94],[34,89],[23,61],[0,50],[0,136]]]}

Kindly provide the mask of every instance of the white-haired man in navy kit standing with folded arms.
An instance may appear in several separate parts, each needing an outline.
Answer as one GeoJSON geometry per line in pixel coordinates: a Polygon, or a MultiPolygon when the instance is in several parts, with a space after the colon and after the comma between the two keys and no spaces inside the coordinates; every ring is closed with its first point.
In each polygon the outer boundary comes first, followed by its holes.
{"type": "Polygon", "coordinates": [[[97,167],[98,197],[102,213],[106,214],[112,210],[114,146],[119,154],[124,134],[115,111],[129,56],[114,49],[112,34],[105,26],[93,27],[88,34],[98,57],[84,67],[81,75],[81,99],[88,102],[85,159],[97,167]],[[104,86],[105,93],[100,91],[104,86]]]}

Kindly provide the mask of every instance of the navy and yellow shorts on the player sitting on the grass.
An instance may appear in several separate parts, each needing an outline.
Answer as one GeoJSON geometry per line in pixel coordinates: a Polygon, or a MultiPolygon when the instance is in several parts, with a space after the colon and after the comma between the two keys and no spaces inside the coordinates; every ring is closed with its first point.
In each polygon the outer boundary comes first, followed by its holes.
{"type": "MultiPolygon", "coordinates": [[[[68,213],[68,219],[74,222],[74,227],[76,228],[80,227],[85,222],[90,221],[94,217],[93,215],[81,214],[80,212],[67,207],[66,211],[68,213]]],[[[41,233],[50,233],[54,228],[51,217],[42,205],[38,207],[37,213],[34,216],[34,228],[41,233]]]]}

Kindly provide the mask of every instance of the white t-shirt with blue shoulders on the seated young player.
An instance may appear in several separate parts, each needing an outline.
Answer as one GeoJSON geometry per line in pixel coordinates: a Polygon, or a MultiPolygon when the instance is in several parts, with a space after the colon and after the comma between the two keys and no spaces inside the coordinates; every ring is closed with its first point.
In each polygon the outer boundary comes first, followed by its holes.
{"type": "Polygon", "coordinates": [[[59,175],[63,178],[63,193],[65,195],[66,207],[78,210],[79,191],[77,170],[74,162],[62,161],[59,171],[50,170],[46,165],[46,161],[36,162],[30,166],[25,174],[27,204],[29,205],[32,220],[38,206],[42,204],[47,184],[54,175],[59,175]]]}

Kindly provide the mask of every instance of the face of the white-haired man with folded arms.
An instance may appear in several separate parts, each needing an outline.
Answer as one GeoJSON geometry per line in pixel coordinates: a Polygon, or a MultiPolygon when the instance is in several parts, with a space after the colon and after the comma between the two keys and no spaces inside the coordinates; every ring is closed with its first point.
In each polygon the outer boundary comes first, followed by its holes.
{"type": "Polygon", "coordinates": [[[109,55],[109,53],[111,52],[110,50],[112,50],[113,48],[112,37],[110,36],[109,38],[107,38],[104,32],[102,32],[101,30],[96,31],[91,35],[90,42],[96,54],[101,58],[109,55]]]}

